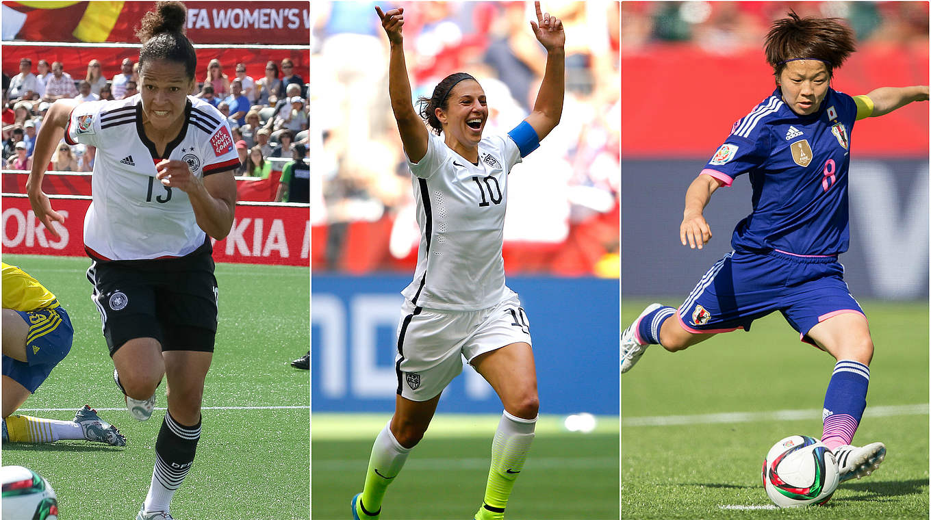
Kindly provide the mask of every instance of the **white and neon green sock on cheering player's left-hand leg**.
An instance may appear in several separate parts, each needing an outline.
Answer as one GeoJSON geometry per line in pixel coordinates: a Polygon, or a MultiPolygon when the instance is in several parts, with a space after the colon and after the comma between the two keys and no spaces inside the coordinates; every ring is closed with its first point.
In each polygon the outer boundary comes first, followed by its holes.
{"type": "Polygon", "coordinates": [[[410,448],[398,444],[398,440],[391,434],[390,426],[391,422],[388,421],[385,428],[375,437],[375,444],[371,447],[369,470],[365,473],[365,487],[362,488],[362,495],[356,502],[356,512],[360,518],[377,517],[378,513],[381,513],[385,491],[398,476],[408,454],[411,453],[410,448]],[[362,511],[363,507],[365,511],[362,511]]]}

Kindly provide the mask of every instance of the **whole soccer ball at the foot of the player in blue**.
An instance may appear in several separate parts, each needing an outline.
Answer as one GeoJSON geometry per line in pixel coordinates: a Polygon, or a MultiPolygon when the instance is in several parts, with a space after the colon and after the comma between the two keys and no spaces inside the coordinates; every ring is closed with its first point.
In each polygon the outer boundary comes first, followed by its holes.
{"type": "Polygon", "coordinates": [[[782,439],[762,461],[762,485],[779,507],[823,504],[834,494],[840,478],[834,454],[807,435],[782,439]]]}

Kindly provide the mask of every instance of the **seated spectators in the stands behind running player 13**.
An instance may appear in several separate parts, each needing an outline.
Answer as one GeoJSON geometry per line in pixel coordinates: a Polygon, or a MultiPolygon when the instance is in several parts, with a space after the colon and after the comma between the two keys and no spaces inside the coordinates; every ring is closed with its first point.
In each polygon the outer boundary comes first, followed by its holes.
{"type": "MultiPolygon", "coordinates": [[[[4,167],[32,167],[36,132],[52,102],[62,98],[82,101],[128,98],[139,91],[138,68],[138,63],[123,60],[120,73],[107,79],[101,73],[101,61],[90,60],[86,76],[75,80],[59,61],[49,65],[47,60],[38,60],[34,68],[32,58],[21,58],[19,73],[3,72],[4,167]]],[[[276,170],[282,170],[286,164],[293,168],[306,163],[308,87],[294,68],[287,58],[268,61],[264,73],[256,80],[247,73],[245,64],[236,63],[231,78],[223,73],[219,60],[210,60],[203,80],[190,93],[207,100],[228,118],[242,163],[236,175],[267,179],[273,163],[277,164],[276,170]]],[[[95,153],[93,147],[70,146],[61,140],[48,169],[91,171],[95,153]]],[[[279,196],[285,201],[307,202],[304,196],[296,201],[293,197],[289,199],[287,192],[279,196]]]]}

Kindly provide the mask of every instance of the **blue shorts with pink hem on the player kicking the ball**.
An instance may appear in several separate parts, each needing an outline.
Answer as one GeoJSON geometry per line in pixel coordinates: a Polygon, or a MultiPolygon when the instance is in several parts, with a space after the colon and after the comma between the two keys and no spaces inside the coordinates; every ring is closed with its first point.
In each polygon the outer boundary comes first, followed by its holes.
{"type": "Polygon", "coordinates": [[[749,330],[753,320],[774,311],[813,345],[806,334],[818,323],[837,314],[863,314],[837,257],[732,251],[705,273],[678,316],[690,332],[730,332],[749,330]]]}

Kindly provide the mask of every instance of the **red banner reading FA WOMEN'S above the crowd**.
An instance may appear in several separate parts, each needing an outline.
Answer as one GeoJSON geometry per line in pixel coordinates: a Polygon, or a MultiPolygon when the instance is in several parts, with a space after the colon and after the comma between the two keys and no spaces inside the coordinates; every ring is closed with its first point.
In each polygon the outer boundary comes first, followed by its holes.
{"type": "MultiPolygon", "coordinates": [[[[310,42],[310,2],[185,2],[196,44],[310,42]]],[[[139,20],[155,2],[4,2],[4,33],[33,42],[137,43],[139,20]]]]}

